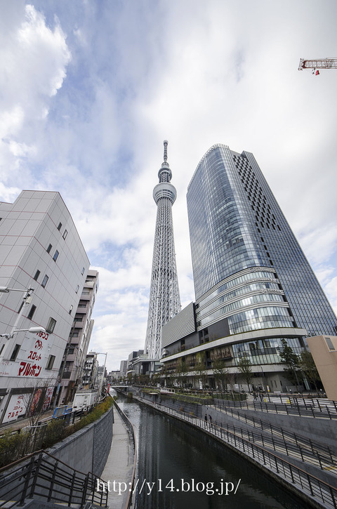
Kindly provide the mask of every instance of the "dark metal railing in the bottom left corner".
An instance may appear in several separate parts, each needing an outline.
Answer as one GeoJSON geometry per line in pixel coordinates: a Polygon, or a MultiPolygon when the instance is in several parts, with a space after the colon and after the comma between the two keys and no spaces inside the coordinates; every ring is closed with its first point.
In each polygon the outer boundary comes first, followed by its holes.
{"type": "Polygon", "coordinates": [[[84,474],[46,451],[37,451],[0,469],[0,507],[24,505],[27,498],[107,507],[107,493],[96,491],[100,480],[92,472],[84,474]]]}

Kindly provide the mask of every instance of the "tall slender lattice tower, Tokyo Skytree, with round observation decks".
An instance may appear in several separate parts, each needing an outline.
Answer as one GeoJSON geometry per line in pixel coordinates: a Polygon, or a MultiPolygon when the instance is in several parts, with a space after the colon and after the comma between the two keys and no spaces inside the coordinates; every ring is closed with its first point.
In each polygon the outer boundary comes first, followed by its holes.
{"type": "Polygon", "coordinates": [[[150,288],[149,316],[145,339],[145,352],[149,359],[161,358],[161,326],[180,312],[180,295],[174,250],[172,205],[177,192],[170,181],[172,172],[167,162],[168,141],[164,140],[164,163],[158,172],[159,184],[154,187],[157,204],[157,221],[150,288]]]}

